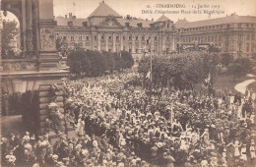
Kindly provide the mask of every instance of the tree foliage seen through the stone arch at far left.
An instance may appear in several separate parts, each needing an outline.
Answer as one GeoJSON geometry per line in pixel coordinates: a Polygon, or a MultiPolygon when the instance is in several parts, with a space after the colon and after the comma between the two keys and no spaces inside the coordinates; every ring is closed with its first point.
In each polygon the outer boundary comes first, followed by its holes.
{"type": "Polygon", "coordinates": [[[15,54],[10,43],[19,34],[18,23],[16,21],[3,20],[3,29],[1,31],[2,58],[11,58],[15,54]]]}

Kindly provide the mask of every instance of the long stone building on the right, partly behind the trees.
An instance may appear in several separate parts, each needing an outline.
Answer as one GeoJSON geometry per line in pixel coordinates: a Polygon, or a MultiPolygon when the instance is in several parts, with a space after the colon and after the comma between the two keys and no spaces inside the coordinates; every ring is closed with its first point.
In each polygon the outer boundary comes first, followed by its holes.
{"type": "Polygon", "coordinates": [[[213,43],[223,53],[237,57],[255,54],[256,17],[237,16],[232,14],[224,18],[209,19],[197,22],[178,20],[175,23],[176,49],[182,44],[213,43]]]}

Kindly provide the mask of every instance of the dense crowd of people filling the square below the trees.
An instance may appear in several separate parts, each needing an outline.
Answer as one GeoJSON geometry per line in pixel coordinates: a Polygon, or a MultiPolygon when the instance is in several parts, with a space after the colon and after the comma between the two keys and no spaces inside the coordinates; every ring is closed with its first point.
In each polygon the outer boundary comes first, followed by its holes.
{"type": "Polygon", "coordinates": [[[135,73],[66,80],[77,139],[2,139],[2,162],[55,166],[246,166],[255,163],[252,93],[142,88],[135,73]],[[136,79],[136,80],[134,80],[136,79]],[[241,98],[241,99],[240,99],[241,98]]]}

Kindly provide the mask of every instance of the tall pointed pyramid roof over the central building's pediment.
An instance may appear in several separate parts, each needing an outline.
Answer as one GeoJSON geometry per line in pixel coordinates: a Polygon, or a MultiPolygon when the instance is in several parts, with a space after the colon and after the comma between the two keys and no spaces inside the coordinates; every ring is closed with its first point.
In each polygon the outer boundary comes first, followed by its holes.
{"type": "Polygon", "coordinates": [[[94,18],[94,17],[107,17],[107,16],[114,16],[116,18],[122,18],[121,15],[119,15],[117,12],[115,12],[112,8],[110,8],[108,5],[104,3],[104,1],[100,2],[96,10],[88,17],[88,18],[94,18]]]}

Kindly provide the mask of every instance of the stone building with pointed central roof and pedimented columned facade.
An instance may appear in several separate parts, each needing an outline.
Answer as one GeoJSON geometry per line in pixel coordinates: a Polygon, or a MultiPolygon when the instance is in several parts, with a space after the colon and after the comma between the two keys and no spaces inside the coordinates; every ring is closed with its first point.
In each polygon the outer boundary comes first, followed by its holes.
{"type": "Polygon", "coordinates": [[[165,16],[159,20],[122,17],[104,2],[87,19],[57,17],[57,37],[67,40],[70,48],[80,45],[85,49],[118,52],[129,51],[136,58],[151,43],[155,54],[174,50],[175,27],[165,16]]]}

